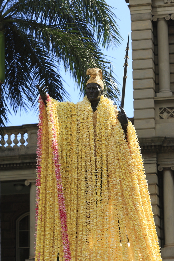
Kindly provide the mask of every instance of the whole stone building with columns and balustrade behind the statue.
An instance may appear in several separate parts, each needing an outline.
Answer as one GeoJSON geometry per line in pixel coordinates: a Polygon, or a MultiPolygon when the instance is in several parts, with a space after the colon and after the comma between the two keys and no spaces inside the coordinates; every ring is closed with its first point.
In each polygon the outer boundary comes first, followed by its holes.
{"type": "MultiPolygon", "coordinates": [[[[162,258],[174,261],[174,0],[126,2],[132,21],[132,120],[162,258]]],[[[37,124],[8,127],[7,147],[0,148],[1,261],[34,260],[36,132],[37,124]]]]}

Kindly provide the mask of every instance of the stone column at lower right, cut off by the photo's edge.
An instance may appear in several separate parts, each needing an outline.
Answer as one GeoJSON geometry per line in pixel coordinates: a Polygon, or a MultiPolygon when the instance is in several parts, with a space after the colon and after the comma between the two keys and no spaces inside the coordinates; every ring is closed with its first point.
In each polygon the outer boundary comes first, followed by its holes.
{"type": "Polygon", "coordinates": [[[171,168],[163,170],[165,247],[174,247],[174,183],[171,168]]]}

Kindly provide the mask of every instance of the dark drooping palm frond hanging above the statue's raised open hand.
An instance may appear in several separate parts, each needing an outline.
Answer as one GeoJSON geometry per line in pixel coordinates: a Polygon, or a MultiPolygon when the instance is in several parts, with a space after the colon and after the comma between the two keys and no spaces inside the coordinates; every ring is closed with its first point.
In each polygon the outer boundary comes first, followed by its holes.
{"type": "Polygon", "coordinates": [[[37,97],[35,84],[45,82],[50,86],[50,95],[63,101],[68,95],[63,88],[62,78],[57,71],[54,58],[42,49],[38,42],[32,47],[30,37],[9,26],[6,33],[6,78],[4,83],[6,98],[13,110],[27,108],[27,102],[33,104],[37,97]],[[10,49],[10,50],[8,50],[10,49]]]}

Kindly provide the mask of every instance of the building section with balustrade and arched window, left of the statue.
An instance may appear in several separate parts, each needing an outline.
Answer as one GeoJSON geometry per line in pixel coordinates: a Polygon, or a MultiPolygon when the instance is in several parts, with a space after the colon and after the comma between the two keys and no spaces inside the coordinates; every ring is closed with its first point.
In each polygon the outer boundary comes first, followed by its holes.
{"type": "Polygon", "coordinates": [[[0,147],[1,261],[33,261],[37,124],[7,127],[5,138],[0,147]]]}

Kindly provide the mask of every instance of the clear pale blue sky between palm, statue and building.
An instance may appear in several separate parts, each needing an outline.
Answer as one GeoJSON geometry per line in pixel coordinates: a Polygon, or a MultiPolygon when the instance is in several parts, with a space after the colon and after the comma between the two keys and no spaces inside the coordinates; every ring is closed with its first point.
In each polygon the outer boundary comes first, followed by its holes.
{"type": "MultiPolygon", "coordinates": [[[[125,48],[127,46],[128,33],[131,33],[130,30],[130,11],[128,8],[128,4],[125,0],[106,0],[106,2],[116,8],[113,9],[113,12],[118,17],[118,26],[119,31],[124,39],[120,46],[109,51],[104,50],[104,54],[108,56],[108,59],[113,64],[113,71],[117,75],[116,79],[120,83],[118,86],[120,90],[122,90],[122,81],[123,81],[123,64],[124,64],[124,56],[125,56],[125,48]]],[[[131,37],[129,37],[129,60],[128,60],[128,72],[127,72],[127,83],[126,83],[126,93],[125,93],[125,102],[124,102],[124,110],[127,113],[128,117],[133,117],[133,87],[132,87],[132,53],[131,53],[131,37]]],[[[62,68],[62,77],[65,79],[66,83],[64,85],[65,89],[70,94],[70,100],[76,103],[79,100],[82,100],[83,97],[79,96],[79,91],[74,86],[74,81],[68,74],[65,74],[64,69],[62,68]]],[[[9,115],[9,122],[7,126],[17,126],[22,124],[31,124],[37,123],[37,113],[34,111],[21,112],[21,115],[17,113],[16,115],[9,115]]]]}

